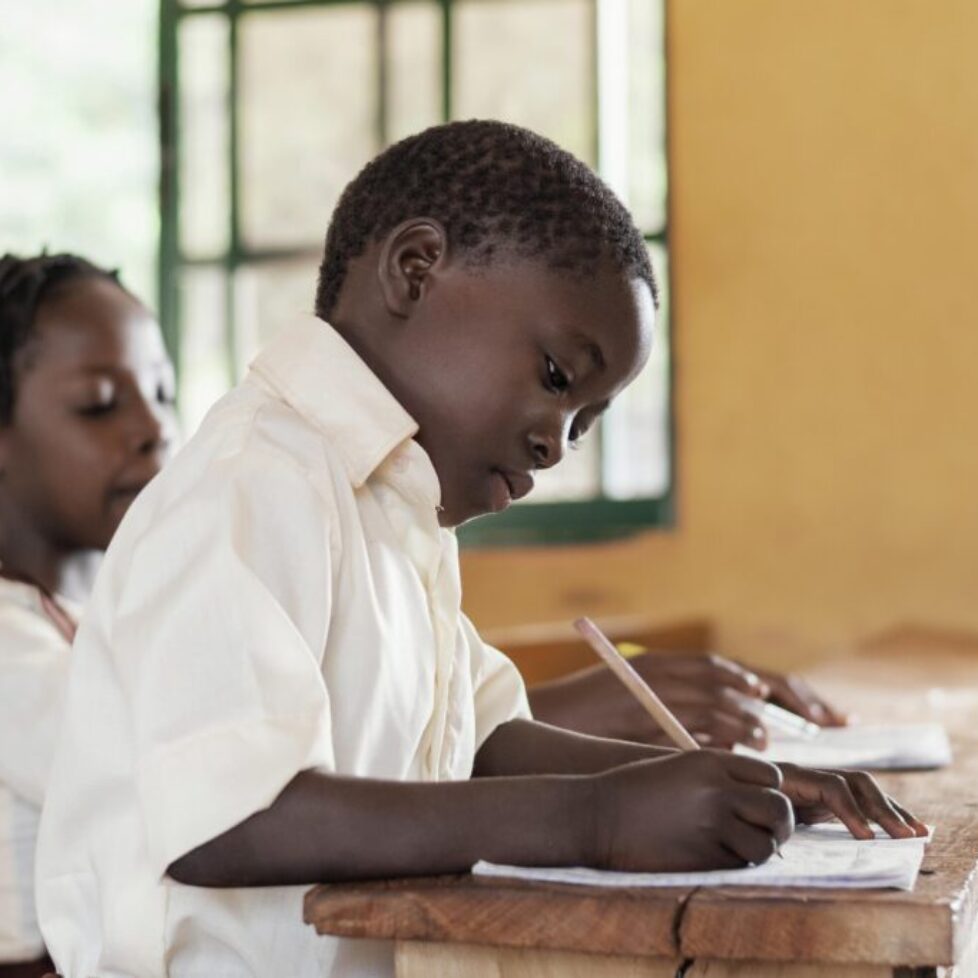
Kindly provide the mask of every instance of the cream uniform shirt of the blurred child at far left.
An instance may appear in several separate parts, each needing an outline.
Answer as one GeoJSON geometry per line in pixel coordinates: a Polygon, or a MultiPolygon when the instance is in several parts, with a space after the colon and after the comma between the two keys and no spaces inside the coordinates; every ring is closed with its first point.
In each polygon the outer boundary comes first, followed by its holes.
{"type": "MultiPolygon", "coordinates": [[[[80,609],[58,600],[77,616],[80,609]]],[[[0,963],[44,953],[34,848],[70,651],[37,588],[0,578],[0,963]]]]}

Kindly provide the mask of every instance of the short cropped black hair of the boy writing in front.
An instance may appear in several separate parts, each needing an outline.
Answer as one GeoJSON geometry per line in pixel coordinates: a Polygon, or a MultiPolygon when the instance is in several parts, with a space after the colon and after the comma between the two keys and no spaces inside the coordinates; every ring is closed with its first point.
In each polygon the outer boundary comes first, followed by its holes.
{"type": "Polygon", "coordinates": [[[610,262],[659,289],[628,210],[556,143],[505,122],[433,126],[368,163],[346,187],[326,234],[316,314],[328,319],[347,268],[401,221],[440,221],[473,265],[507,253],[573,275],[610,262]]]}

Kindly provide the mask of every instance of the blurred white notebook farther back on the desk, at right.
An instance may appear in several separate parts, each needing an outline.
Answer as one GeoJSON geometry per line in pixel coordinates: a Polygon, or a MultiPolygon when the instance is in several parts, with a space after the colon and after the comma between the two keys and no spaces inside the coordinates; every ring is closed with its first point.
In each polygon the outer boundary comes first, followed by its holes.
{"type": "Polygon", "coordinates": [[[951,745],[939,723],[823,727],[811,739],[794,738],[772,729],[767,750],[758,752],[740,745],[735,750],[766,761],[806,767],[897,771],[951,763],[951,745]]]}

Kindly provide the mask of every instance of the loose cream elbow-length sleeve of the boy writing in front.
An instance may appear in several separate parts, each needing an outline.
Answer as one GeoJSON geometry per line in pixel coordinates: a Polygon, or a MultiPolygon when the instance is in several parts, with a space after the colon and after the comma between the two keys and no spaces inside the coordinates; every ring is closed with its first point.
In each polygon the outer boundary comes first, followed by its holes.
{"type": "Polygon", "coordinates": [[[132,551],[109,645],[150,858],[174,860],[334,767],[321,673],[335,504],[286,456],[212,463],[132,551]]]}

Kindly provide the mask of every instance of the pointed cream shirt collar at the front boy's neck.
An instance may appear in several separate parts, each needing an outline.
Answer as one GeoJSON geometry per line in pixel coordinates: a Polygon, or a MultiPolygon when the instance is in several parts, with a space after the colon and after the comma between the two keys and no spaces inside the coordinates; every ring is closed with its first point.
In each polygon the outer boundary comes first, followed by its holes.
{"type": "Polygon", "coordinates": [[[277,333],[250,369],[329,438],[354,488],[418,430],[353,347],[321,319],[310,316],[277,333]]]}

